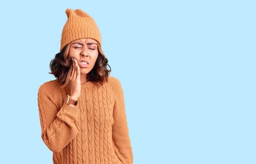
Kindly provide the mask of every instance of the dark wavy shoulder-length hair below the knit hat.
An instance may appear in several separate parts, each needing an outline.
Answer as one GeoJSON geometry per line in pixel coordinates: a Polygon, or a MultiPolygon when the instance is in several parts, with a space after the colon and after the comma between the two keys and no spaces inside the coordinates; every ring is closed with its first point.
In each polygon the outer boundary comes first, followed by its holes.
{"type": "MultiPolygon", "coordinates": [[[[97,86],[102,85],[105,81],[108,82],[108,76],[111,72],[111,66],[108,64],[108,59],[105,57],[102,49],[98,44],[98,58],[93,69],[87,73],[87,80],[93,81],[97,86]],[[107,65],[110,70],[107,69],[107,65]]],[[[68,52],[70,49],[70,43],[68,43],[58,54],[55,55],[55,58],[50,62],[51,72],[55,78],[58,79],[58,82],[61,83],[61,88],[65,87],[69,83],[69,78],[72,72],[72,59],[67,58],[68,52]]]]}

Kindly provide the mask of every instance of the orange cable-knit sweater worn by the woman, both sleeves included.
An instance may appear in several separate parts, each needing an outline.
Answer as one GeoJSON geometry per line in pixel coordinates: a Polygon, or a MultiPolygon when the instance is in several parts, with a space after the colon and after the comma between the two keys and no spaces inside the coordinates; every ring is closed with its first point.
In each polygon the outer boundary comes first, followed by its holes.
{"type": "Polygon", "coordinates": [[[108,77],[97,87],[81,84],[76,107],[64,103],[70,85],[57,79],[38,89],[38,108],[44,143],[53,164],[132,164],[124,95],[120,81],[108,77]]]}

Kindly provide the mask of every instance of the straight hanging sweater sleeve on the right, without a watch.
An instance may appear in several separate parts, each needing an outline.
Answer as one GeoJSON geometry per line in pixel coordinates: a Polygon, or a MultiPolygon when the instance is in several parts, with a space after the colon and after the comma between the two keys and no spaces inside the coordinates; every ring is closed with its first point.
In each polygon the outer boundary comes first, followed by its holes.
{"type": "Polygon", "coordinates": [[[113,147],[116,156],[123,164],[132,164],[133,153],[125,114],[123,89],[117,78],[114,78],[113,80],[112,87],[115,95],[115,104],[113,109],[114,123],[112,125],[113,147]]]}

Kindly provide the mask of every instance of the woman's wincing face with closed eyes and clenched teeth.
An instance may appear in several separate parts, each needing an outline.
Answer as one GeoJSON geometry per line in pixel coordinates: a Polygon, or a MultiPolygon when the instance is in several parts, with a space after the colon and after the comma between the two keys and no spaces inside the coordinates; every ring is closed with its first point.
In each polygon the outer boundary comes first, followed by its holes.
{"type": "Polygon", "coordinates": [[[97,41],[90,38],[74,40],[70,43],[69,58],[75,58],[80,67],[80,74],[87,74],[95,65],[99,52],[97,41]],[[83,63],[86,60],[88,63],[83,63]]]}

